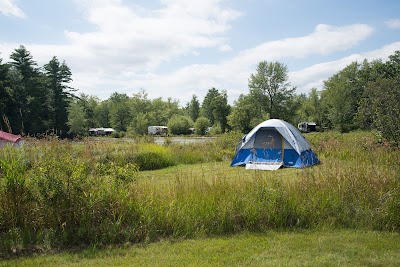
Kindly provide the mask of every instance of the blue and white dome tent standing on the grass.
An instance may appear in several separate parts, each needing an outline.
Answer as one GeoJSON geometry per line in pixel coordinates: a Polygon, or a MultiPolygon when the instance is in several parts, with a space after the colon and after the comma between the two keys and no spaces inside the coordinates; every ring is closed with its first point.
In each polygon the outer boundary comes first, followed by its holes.
{"type": "Polygon", "coordinates": [[[303,168],[319,163],[311,144],[290,123],[271,119],[257,125],[236,147],[231,166],[277,170],[303,168]]]}

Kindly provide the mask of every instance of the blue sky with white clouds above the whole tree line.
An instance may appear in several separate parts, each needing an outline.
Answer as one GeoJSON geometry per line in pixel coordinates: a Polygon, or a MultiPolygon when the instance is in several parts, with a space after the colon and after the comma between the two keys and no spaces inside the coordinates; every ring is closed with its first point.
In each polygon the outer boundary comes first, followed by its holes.
{"type": "Polygon", "coordinates": [[[400,50],[398,0],[0,0],[0,58],[20,45],[70,67],[77,93],[171,98],[248,94],[261,61],[287,66],[296,93],[350,63],[400,50]]]}

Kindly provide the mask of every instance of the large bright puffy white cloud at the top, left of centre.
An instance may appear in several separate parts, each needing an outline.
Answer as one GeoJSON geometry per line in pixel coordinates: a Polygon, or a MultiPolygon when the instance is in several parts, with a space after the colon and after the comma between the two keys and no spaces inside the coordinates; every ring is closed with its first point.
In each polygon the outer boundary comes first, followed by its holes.
{"type": "Polygon", "coordinates": [[[122,1],[77,1],[87,20],[98,29],[79,33],[67,31],[86,65],[113,65],[131,71],[154,71],[178,56],[196,54],[199,48],[224,48],[230,21],[240,13],[225,8],[222,1],[162,1],[157,10],[144,10],[122,1]]]}

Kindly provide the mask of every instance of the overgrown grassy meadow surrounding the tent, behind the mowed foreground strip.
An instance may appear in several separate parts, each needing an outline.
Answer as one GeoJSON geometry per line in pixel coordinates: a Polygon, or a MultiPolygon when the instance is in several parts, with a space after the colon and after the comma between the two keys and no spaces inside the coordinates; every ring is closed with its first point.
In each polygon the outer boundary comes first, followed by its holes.
{"type": "Polygon", "coordinates": [[[239,133],[2,149],[0,258],[269,231],[398,234],[398,148],[370,132],[306,137],[321,164],[274,172],[229,167],[239,133]]]}

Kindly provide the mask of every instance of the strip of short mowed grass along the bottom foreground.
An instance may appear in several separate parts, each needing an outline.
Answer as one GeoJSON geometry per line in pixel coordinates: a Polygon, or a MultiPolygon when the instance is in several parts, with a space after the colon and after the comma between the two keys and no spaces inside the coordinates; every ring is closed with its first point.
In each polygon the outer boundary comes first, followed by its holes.
{"type": "Polygon", "coordinates": [[[31,256],[1,266],[400,266],[398,233],[241,233],[31,256]]]}

